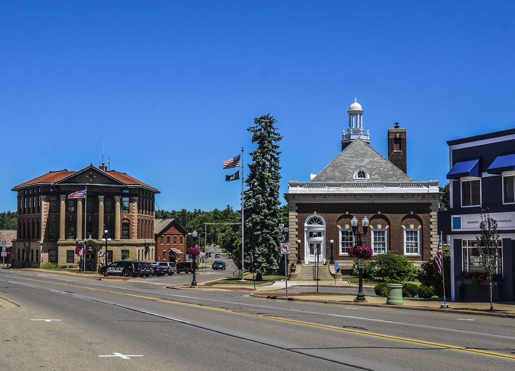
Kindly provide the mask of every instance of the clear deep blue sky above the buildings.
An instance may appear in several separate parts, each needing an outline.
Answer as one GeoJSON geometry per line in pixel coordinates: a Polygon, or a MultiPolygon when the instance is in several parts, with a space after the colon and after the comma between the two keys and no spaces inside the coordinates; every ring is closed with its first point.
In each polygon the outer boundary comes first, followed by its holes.
{"type": "MultiPolygon", "coordinates": [[[[3,1],[0,211],[11,188],[98,166],[164,210],[240,208],[246,130],[271,113],[281,194],[340,151],[363,106],[371,145],[407,129],[408,175],[447,183],[446,141],[515,126],[512,1],[3,1]]],[[[248,168],[245,168],[245,177],[248,168]]],[[[281,197],[281,201],[285,203],[281,197]]]]}

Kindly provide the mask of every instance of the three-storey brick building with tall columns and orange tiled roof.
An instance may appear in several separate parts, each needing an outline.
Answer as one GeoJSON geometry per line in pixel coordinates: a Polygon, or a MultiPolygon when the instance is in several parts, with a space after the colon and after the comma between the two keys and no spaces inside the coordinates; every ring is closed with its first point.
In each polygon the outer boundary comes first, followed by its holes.
{"type": "Polygon", "coordinates": [[[79,171],[57,171],[16,185],[18,226],[13,241],[13,267],[40,267],[47,262],[76,265],[77,247],[86,258],[108,262],[155,257],[154,207],[151,187],[125,173],[108,170],[102,163],[79,171]],[[85,198],[69,198],[85,191],[85,198]]]}

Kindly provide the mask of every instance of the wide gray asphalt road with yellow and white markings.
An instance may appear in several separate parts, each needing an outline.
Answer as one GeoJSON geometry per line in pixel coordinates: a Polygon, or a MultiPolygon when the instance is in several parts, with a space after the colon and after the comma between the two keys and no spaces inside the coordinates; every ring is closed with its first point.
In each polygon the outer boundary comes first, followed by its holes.
{"type": "Polygon", "coordinates": [[[0,271],[19,305],[0,311],[0,370],[515,369],[509,318],[166,289],[181,276],[0,271]]]}

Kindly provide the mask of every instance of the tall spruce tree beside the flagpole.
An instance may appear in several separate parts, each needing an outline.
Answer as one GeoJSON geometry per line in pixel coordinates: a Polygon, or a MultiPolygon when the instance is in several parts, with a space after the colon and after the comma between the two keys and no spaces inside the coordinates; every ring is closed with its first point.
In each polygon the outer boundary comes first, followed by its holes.
{"type": "Polygon", "coordinates": [[[279,244],[282,238],[279,206],[279,142],[282,137],[273,126],[276,120],[270,114],[254,119],[252,143],[258,148],[250,153],[252,163],[245,181],[245,260],[250,262],[249,251],[253,255],[253,268],[256,279],[263,274],[271,274],[279,267],[279,244]]]}

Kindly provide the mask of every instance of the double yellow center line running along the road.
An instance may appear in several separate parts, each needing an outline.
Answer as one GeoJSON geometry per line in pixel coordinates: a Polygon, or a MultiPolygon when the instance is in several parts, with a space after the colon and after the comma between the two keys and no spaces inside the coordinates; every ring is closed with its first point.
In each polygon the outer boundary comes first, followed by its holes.
{"type": "MultiPolygon", "coordinates": [[[[14,276],[11,276],[11,277],[14,277],[14,276]]],[[[126,293],[121,293],[121,292],[111,291],[111,290],[95,289],[95,288],[89,288],[86,286],[80,286],[80,285],[76,285],[76,284],[72,284],[72,283],[52,282],[52,281],[38,280],[38,279],[34,279],[34,278],[26,278],[26,277],[16,277],[16,278],[31,280],[31,281],[36,281],[36,282],[59,284],[59,285],[70,286],[70,287],[74,287],[74,288],[78,288],[78,289],[87,289],[87,290],[105,292],[105,293],[110,293],[110,294],[136,297],[136,298],[140,298],[140,299],[162,301],[162,302],[168,302],[168,303],[173,303],[173,304],[178,304],[178,305],[186,305],[186,306],[191,306],[191,307],[196,307],[196,308],[216,310],[216,311],[226,312],[226,313],[247,315],[247,316],[259,317],[259,318],[271,319],[272,321],[280,321],[280,322],[291,323],[291,324],[296,324],[296,325],[321,328],[321,329],[325,329],[325,330],[347,332],[347,333],[352,333],[352,334],[356,334],[356,335],[371,336],[373,338],[393,340],[393,341],[398,341],[398,342],[403,342],[403,343],[411,343],[411,344],[417,344],[417,345],[425,345],[425,346],[431,346],[431,347],[441,348],[441,349],[451,349],[451,350],[457,350],[457,351],[462,351],[462,352],[467,352],[467,353],[473,353],[473,354],[480,355],[480,356],[488,356],[488,357],[502,358],[502,359],[515,361],[515,355],[511,356],[511,355],[507,355],[507,354],[503,354],[503,353],[490,352],[490,351],[481,350],[481,349],[465,348],[465,347],[461,347],[461,346],[433,343],[433,342],[427,342],[427,341],[423,341],[423,340],[416,340],[416,339],[409,339],[409,338],[401,338],[399,336],[391,336],[391,335],[385,335],[385,334],[368,332],[368,331],[359,331],[359,330],[345,329],[345,328],[328,326],[328,325],[319,325],[319,324],[314,324],[311,322],[295,321],[294,319],[279,318],[279,317],[274,317],[274,316],[269,316],[269,315],[264,315],[264,314],[238,312],[238,311],[235,311],[232,309],[209,307],[209,306],[204,306],[204,305],[200,305],[200,304],[186,303],[186,302],[169,300],[169,299],[161,299],[161,298],[155,298],[155,297],[151,297],[151,296],[126,294],[126,293]]]]}

